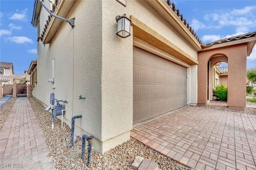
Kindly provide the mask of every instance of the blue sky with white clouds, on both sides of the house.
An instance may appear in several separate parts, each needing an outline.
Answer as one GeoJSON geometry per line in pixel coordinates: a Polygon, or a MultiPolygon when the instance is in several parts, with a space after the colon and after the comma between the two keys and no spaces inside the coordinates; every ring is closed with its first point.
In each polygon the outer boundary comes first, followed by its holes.
{"type": "MultiPolygon", "coordinates": [[[[255,0],[175,0],[175,7],[203,43],[256,31],[255,0]]],[[[36,60],[37,30],[32,20],[34,0],[0,0],[0,61],[24,74],[36,60]]],[[[247,68],[256,67],[256,47],[247,68]]]]}

